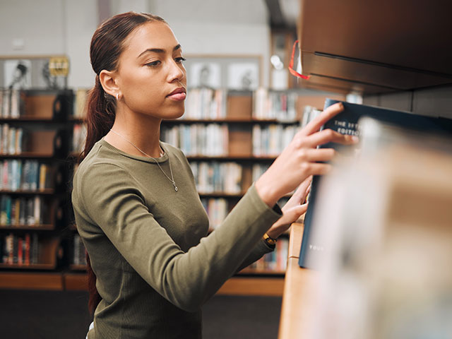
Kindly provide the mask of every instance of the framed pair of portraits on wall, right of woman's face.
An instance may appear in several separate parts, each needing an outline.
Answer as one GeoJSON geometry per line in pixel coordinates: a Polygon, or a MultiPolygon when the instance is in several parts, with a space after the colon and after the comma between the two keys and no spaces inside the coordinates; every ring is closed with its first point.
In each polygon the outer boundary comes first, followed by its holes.
{"type": "Polygon", "coordinates": [[[262,81],[261,56],[187,55],[188,88],[256,90],[262,81]]]}

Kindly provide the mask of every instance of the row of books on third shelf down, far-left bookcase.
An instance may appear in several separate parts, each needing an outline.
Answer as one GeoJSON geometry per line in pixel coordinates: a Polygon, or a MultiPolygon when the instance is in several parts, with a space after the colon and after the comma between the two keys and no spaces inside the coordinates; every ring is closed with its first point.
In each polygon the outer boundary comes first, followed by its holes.
{"type": "Polygon", "coordinates": [[[42,190],[52,186],[52,168],[37,160],[0,161],[0,190],[42,190]]]}

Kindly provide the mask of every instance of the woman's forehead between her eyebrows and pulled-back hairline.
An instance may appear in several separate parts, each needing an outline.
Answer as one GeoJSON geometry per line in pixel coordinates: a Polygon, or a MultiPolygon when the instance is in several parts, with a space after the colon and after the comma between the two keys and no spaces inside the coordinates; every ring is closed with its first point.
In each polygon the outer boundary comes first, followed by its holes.
{"type": "Polygon", "coordinates": [[[144,23],[133,30],[124,41],[122,54],[138,57],[145,49],[159,48],[172,52],[179,44],[169,25],[160,21],[144,23]]]}

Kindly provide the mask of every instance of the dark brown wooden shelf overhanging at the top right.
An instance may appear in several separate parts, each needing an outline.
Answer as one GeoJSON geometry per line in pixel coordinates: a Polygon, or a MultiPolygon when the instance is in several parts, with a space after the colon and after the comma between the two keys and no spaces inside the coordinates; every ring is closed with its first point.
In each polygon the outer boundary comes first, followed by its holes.
{"type": "Polygon", "coordinates": [[[300,1],[307,88],[391,93],[452,83],[448,1],[300,1]]]}

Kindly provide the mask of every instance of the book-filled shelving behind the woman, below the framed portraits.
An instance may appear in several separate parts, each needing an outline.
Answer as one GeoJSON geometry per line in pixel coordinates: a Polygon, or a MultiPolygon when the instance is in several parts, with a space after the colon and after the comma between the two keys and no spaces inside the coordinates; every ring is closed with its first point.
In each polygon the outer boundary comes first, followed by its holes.
{"type": "MultiPolygon", "coordinates": [[[[74,115],[69,117],[71,174],[76,169],[74,155],[83,148],[85,139],[81,105],[86,93],[76,91],[74,115]]],[[[162,141],[181,148],[191,164],[201,202],[209,215],[210,232],[215,232],[215,227],[292,139],[302,121],[304,105],[323,102],[325,98],[324,93],[320,100],[318,95],[309,95],[300,95],[297,90],[193,89],[187,97],[184,117],[162,122],[162,141]]],[[[280,206],[288,198],[283,198],[280,206]]],[[[68,213],[72,220],[71,211],[68,213]]],[[[69,228],[63,286],[67,290],[85,290],[85,249],[75,225],[69,228]]],[[[241,270],[219,293],[281,295],[287,241],[287,234],[282,235],[273,253],[241,270]]]]}

